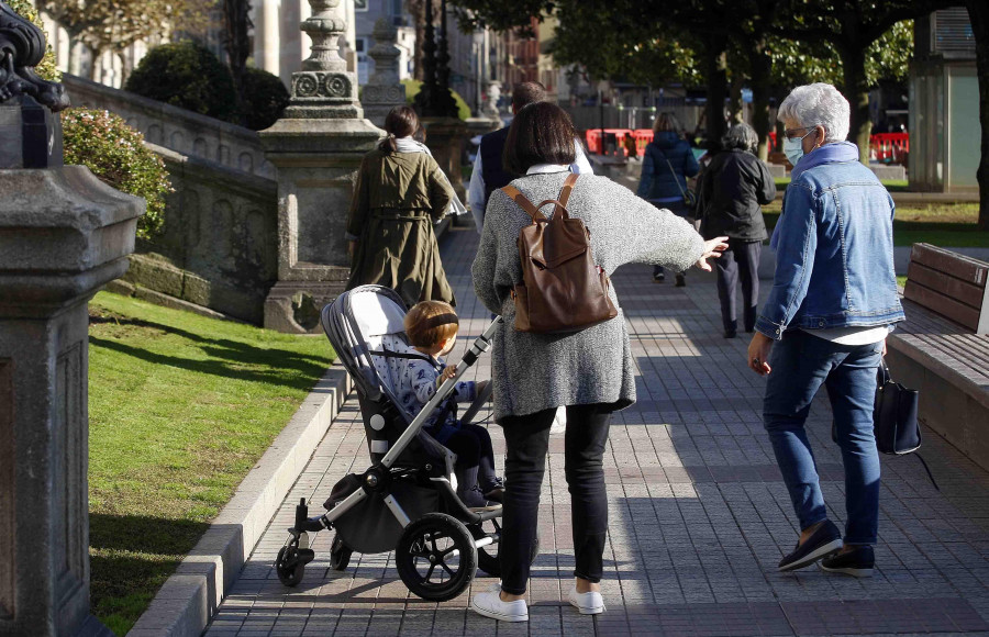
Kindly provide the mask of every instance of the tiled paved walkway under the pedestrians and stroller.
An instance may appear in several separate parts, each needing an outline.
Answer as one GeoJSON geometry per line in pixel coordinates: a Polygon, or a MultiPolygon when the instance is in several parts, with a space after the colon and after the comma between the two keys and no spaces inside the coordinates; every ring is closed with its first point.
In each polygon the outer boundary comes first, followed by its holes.
{"type": "MultiPolygon", "coordinates": [[[[473,230],[443,239],[463,331],[451,360],[488,323],[470,284],[476,243],[473,230]]],[[[776,571],[797,528],[762,427],[764,381],[745,368],[747,339],[721,337],[713,276],[691,273],[688,281],[680,289],[654,284],[647,266],[614,277],[638,366],[638,403],[613,418],[604,460],[607,613],[581,616],[565,602],[574,554],[562,436],[551,443],[527,624],[498,625],[469,612],[470,592],[423,602],[402,584],[390,555],[355,555],[337,573],[329,568],[329,533],[316,536],[304,581],[284,588],[271,563],[299,498],[322,502],[341,477],[367,467],[351,401],[207,635],[989,635],[989,473],[933,434],[924,457],[941,492],[915,458],[884,458],[871,579],[776,571]]],[[[471,371],[486,377],[487,361],[471,371]]],[[[830,515],[842,523],[844,482],[830,424],[821,395],[809,429],[830,515]]],[[[490,428],[501,462],[504,443],[497,425],[490,428]]],[[[479,571],[474,586],[491,581],[479,571]]]]}

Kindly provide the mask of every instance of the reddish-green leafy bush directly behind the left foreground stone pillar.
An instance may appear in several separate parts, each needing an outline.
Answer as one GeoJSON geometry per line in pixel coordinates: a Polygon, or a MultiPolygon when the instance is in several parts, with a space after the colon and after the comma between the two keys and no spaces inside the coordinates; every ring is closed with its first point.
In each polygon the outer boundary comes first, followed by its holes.
{"type": "Polygon", "coordinates": [[[147,201],[137,236],[151,238],[165,221],[165,193],[173,189],[144,135],[113,113],[90,109],[63,111],[62,126],[66,164],[86,166],[104,183],[147,201]]]}

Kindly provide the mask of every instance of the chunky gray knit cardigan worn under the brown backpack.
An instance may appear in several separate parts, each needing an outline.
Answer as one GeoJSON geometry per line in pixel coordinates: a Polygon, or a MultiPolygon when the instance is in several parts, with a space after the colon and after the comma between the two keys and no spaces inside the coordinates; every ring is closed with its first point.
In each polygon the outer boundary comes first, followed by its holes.
{"type": "MultiPolygon", "coordinates": [[[[530,201],[556,199],[566,172],[530,175],[512,181],[530,201]]],[[[604,177],[581,175],[567,204],[570,216],[590,231],[594,262],[608,275],[627,262],[658,264],[686,270],[703,254],[693,226],[657,210],[631,190],[604,177]]],[[[553,206],[544,211],[552,213],[553,206]]],[[[511,290],[522,283],[516,239],[532,219],[497,190],[485,212],[477,258],[471,268],[477,298],[504,317],[494,337],[492,380],[494,417],[521,416],[559,405],[635,402],[634,361],[624,314],[574,334],[526,334],[514,329],[511,290]]]]}

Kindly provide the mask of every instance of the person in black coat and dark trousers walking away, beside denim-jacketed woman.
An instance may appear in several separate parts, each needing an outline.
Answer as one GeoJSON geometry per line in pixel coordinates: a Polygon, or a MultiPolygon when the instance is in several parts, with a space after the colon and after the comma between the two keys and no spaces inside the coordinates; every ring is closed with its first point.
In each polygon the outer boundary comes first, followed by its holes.
{"type": "Polygon", "coordinates": [[[755,328],[759,302],[759,256],[766,234],[763,209],[776,198],[769,168],[755,156],[758,136],[748,124],[735,124],[722,137],[721,153],[711,159],[698,186],[698,210],[704,238],[727,235],[729,249],[714,264],[724,337],[734,338],[735,287],[742,279],[742,316],[746,332],[755,328]]]}

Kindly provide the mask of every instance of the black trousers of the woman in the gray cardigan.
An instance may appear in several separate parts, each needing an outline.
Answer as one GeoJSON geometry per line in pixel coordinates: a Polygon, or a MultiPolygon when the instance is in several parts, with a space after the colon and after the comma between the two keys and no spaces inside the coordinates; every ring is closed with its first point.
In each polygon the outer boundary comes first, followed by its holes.
{"type": "MultiPolygon", "coordinates": [[[[608,533],[608,494],[604,490],[604,446],[608,443],[609,405],[567,407],[564,443],[565,473],[570,492],[574,575],[600,582],[608,533]]],[[[525,592],[540,511],[540,490],[546,471],[549,427],[556,410],[526,416],[509,416],[504,429],[504,509],[501,545],[501,590],[525,592]]]]}

